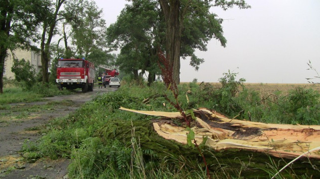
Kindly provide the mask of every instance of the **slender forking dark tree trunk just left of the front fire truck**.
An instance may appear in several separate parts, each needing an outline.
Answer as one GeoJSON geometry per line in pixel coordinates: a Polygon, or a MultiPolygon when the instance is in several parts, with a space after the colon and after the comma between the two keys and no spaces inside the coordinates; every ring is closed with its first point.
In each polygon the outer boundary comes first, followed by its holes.
{"type": "Polygon", "coordinates": [[[48,11],[47,18],[43,21],[42,24],[42,35],[41,35],[41,64],[42,64],[42,82],[48,83],[49,82],[49,61],[50,61],[50,45],[51,40],[54,35],[55,27],[57,25],[57,22],[60,20],[58,18],[59,16],[59,10],[62,6],[62,4],[65,2],[65,0],[56,0],[54,3],[52,3],[52,7],[48,11]]]}

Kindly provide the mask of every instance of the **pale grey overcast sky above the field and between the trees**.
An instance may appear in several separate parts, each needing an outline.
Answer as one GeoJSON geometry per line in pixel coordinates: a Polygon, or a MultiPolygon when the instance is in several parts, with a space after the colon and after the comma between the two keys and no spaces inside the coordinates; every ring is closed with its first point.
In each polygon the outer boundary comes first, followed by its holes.
{"type": "MultiPolygon", "coordinates": [[[[125,0],[96,0],[103,8],[107,26],[116,21],[125,0]]],[[[307,70],[308,60],[320,73],[320,0],[246,0],[250,9],[212,9],[220,18],[226,48],[216,40],[198,71],[181,60],[180,81],[218,82],[228,69],[247,83],[308,83],[316,72],[307,70]]],[[[315,81],[315,82],[320,82],[315,81]]]]}

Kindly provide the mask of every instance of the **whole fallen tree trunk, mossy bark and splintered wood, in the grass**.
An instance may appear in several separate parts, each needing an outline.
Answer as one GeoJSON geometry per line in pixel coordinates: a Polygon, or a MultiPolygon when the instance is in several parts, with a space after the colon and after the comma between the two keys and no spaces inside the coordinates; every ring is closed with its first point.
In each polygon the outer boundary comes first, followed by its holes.
{"type": "MultiPolygon", "coordinates": [[[[116,138],[129,144],[131,129],[134,128],[134,137],[139,138],[141,148],[155,151],[159,158],[169,155],[176,159],[185,158],[191,163],[202,160],[196,148],[186,145],[189,131],[184,124],[175,124],[175,119],[182,119],[179,112],[120,109],[164,118],[132,123],[125,120],[112,121],[99,131],[101,137],[116,138]]],[[[270,170],[267,163],[274,163],[276,166],[273,167],[280,169],[290,159],[320,146],[320,126],[317,125],[266,124],[227,119],[208,110],[197,110],[194,114],[197,119],[193,122],[192,130],[198,144],[204,137],[207,138],[204,154],[213,171],[221,170],[221,164],[227,165],[228,170],[236,171],[246,166],[246,170],[241,173],[246,178],[265,177],[267,174],[261,173],[261,170],[270,170]]],[[[296,174],[308,173],[320,177],[317,169],[320,167],[319,150],[307,152],[290,167],[296,174]]]]}

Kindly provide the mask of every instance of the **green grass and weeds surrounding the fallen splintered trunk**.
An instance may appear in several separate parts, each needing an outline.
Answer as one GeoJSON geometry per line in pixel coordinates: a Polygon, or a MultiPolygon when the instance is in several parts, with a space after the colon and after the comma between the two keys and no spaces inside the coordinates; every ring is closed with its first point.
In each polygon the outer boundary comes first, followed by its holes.
{"type": "MultiPolygon", "coordinates": [[[[313,122],[313,124],[318,122],[313,119],[318,115],[314,112],[319,107],[319,93],[309,89],[297,89],[284,96],[277,92],[273,94],[276,98],[268,100],[263,100],[259,92],[254,90],[243,90],[235,96],[229,96],[226,94],[228,89],[215,88],[210,84],[182,84],[179,86],[179,92],[179,104],[184,110],[207,107],[223,112],[229,117],[233,117],[243,110],[242,117],[244,118],[250,111],[251,119],[255,121],[285,121],[288,123],[294,122],[291,120],[292,115],[303,113],[304,115],[299,116],[299,120],[302,122],[304,120],[313,122]],[[188,93],[188,91],[190,92],[188,93]],[[299,100],[299,98],[302,99],[299,100]],[[292,104],[293,99],[304,103],[294,105],[292,104]],[[312,103],[307,103],[307,101],[312,103]],[[281,114],[284,109],[290,113],[281,114]],[[282,121],[277,119],[278,116],[282,118],[282,121]]],[[[148,121],[156,118],[121,111],[119,110],[121,106],[135,110],[176,111],[165,100],[163,94],[173,100],[170,96],[171,92],[167,91],[162,83],[155,83],[151,87],[124,84],[118,91],[108,92],[84,104],[75,113],[65,118],[52,120],[46,127],[47,131],[43,132],[46,135],[36,143],[29,142],[28,145],[24,145],[23,150],[34,154],[30,156],[32,160],[35,157],[71,158],[72,163],[68,170],[70,178],[206,179],[207,175],[201,161],[188,161],[188,156],[171,155],[170,153],[165,157],[158,158],[154,150],[140,148],[139,138],[130,132],[127,133],[127,137],[131,136],[129,141],[124,138],[116,139],[117,136],[110,137],[116,133],[116,130],[131,130],[131,126],[118,128],[121,122],[148,121]],[[164,103],[165,105],[163,105],[164,103]],[[105,135],[106,133],[109,135],[105,135]]],[[[142,126],[136,127],[141,128],[142,126]]],[[[143,142],[142,139],[141,141],[143,142]]],[[[183,150],[184,147],[180,147],[180,149],[183,150]]],[[[286,160],[278,161],[278,163],[259,161],[259,166],[253,162],[250,163],[250,160],[245,162],[245,158],[248,158],[250,153],[235,159],[225,158],[225,155],[221,153],[211,156],[214,156],[214,160],[216,160],[216,164],[211,166],[215,169],[211,172],[214,179],[243,179],[250,175],[251,178],[254,178],[255,175],[252,177],[252,167],[255,168],[255,172],[258,170],[254,174],[263,174],[263,176],[271,178],[272,174],[275,174],[282,165],[288,162],[286,160]],[[264,163],[266,166],[263,165],[264,163]],[[260,168],[265,169],[266,167],[267,171],[260,170],[260,168]]],[[[283,178],[311,178],[308,174],[295,175],[295,170],[293,168],[284,171],[283,178]]],[[[301,173],[301,171],[299,172],[301,173]]]]}

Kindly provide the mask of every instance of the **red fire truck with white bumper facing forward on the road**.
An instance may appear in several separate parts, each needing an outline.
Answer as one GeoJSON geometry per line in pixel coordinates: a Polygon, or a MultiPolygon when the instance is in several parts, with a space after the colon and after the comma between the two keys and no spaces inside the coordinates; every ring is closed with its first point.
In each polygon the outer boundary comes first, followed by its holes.
{"type": "Polygon", "coordinates": [[[85,59],[59,59],[57,64],[58,88],[81,88],[83,93],[94,90],[95,64],[85,59]]]}

